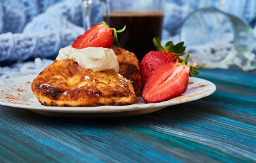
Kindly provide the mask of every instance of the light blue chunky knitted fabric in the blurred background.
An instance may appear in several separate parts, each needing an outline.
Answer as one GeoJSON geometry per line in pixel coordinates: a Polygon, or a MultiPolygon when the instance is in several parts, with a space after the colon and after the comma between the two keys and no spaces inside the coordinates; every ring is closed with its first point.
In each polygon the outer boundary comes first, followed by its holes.
{"type": "MultiPolygon", "coordinates": [[[[179,31],[184,19],[196,9],[205,7],[217,8],[238,17],[250,26],[252,33],[256,33],[255,0],[166,0],[163,42],[173,40],[177,43],[182,40],[179,31]]],[[[92,22],[103,20],[99,4],[92,6],[90,13],[93,15],[92,22]]],[[[228,30],[223,39],[233,40],[232,36],[228,37],[232,28],[225,25],[224,29],[227,27],[228,30]]],[[[61,47],[70,45],[83,32],[81,0],[0,0],[0,66],[35,58],[55,59],[61,47]]],[[[255,40],[251,43],[252,49],[255,49],[255,40]]],[[[216,46],[212,47],[211,52],[214,51],[216,46]]],[[[254,58],[255,53],[248,54],[249,60],[254,58]]],[[[227,65],[220,67],[228,68],[227,65]]],[[[3,68],[1,74],[4,74],[3,68]]]]}

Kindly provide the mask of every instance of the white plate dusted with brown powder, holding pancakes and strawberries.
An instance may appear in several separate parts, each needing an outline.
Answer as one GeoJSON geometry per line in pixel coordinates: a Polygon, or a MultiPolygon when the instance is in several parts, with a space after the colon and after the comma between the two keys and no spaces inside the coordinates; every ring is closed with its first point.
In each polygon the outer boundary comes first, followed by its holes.
{"type": "Polygon", "coordinates": [[[136,116],[159,111],[170,105],[182,104],[207,97],[214,93],[216,86],[209,81],[197,77],[189,77],[188,89],[179,97],[171,100],[145,104],[141,96],[135,104],[125,106],[99,106],[99,107],[49,107],[41,105],[31,91],[31,82],[36,75],[0,79],[0,105],[28,109],[35,113],[47,116],[65,117],[118,117],[136,116]]]}

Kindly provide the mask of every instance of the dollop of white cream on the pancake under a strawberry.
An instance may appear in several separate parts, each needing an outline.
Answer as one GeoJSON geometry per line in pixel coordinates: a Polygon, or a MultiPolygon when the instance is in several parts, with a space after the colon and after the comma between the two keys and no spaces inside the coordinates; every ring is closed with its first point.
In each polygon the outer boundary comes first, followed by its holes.
{"type": "Polygon", "coordinates": [[[119,72],[119,64],[116,54],[112,49],[103,47],[86,47],[76,49],[71,45],[60,49],[56,60],[72,59],[83,68],[88,68],[93,72],[114,70],[119,72]]]}

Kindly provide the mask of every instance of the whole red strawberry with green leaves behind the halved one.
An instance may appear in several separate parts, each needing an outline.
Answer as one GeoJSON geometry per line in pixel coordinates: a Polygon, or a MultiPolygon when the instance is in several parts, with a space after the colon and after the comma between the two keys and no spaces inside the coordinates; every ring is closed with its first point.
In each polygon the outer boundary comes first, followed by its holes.
{"type": "Polygon", "coordinates": [[[186,47],[183,46],[184,42],[177,43],[176,45],[173,42],[167,42],[163,47],[159,38],[154,38],[153,43],[159,51],[148,52],[140,63],[142,86],[145,86],[148,78],[158,66],[164,63],[172,63],[175,59],[181,61],[179,56],[185,54],[186,47]]]}

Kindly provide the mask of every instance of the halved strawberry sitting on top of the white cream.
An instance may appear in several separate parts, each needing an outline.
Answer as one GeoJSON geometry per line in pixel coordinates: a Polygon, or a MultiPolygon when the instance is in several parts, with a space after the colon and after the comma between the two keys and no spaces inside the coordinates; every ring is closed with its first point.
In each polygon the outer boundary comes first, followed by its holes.
{"type": "Polygon", "coordinates": [[[117,34],[125,30],[116,31],[115,28],[109,28],[106,22],[100,22],[95,26],[90,27],[83,35],[77,37],[72,47],[76,49],[83,49],[86,47],[106,47],[111,48],[113,40],[119,46],[117,34]]]}

